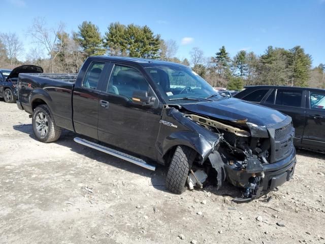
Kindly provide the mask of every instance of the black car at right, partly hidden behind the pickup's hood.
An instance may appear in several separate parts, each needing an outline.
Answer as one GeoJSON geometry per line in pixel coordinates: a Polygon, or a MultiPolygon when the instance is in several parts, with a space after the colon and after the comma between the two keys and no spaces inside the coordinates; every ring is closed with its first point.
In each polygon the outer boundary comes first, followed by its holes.
{"type": "Polygon", "coordinates": [[[246,86],[235,98],[281,111],[293,118],[296,147],[325,151],[325,90],[288,86],[246,86]]]}

